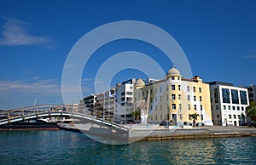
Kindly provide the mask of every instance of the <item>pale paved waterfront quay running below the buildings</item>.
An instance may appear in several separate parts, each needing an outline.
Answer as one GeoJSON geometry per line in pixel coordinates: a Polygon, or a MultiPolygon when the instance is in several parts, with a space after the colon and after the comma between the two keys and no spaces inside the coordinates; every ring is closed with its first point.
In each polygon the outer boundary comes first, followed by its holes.
{"type": "MultiPolygon", "coordinates": [[[[256,128],[248,127],[194,127],[177,128],[175,126],[143,126],[140,124],[126,125],[129,128],[129,138],[132,141],[166,140],[166,139],[200,139],[200,138],[227,138],[227,137],[256,137],[256,128]]],[[[79,131],[79,128],[70,125],[61,125],[62,129],[79,131]]],[[[82,130],[83,131],[83,130],[82,130]]]]}

